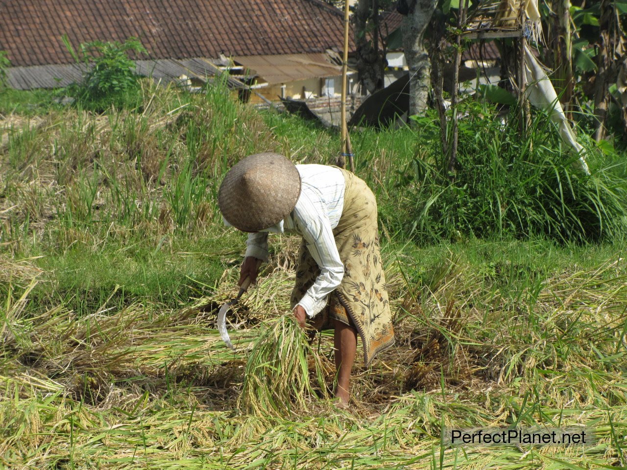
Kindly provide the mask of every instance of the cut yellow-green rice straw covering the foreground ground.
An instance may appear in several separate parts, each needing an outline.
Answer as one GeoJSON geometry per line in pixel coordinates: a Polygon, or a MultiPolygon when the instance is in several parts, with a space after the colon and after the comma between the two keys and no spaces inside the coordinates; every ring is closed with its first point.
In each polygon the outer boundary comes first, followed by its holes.
{"type": "MultiPolygon", "coordinates": [[[[230,316],[236,353],[221,342],[214,321],[219,305],[233,295],[237,268],[226,272],[213,296],[181,310],[132,305],[112,312],[103,306],[84,318],[58,308],[36,318],[16,311],[12,324],[23,335],[4,344],[0,372],[4,464],[121,470],[191,460],[194,467],[238,470],[286,462],[426,469],[442,458],[445,467],[561,469],[579,468],[584,458],[591,468],[618,468],[616,443],[627,431],[621,362],[608,360],[601,370],[594,360],[616,354],[607,335],[618,334],[614,326],[624,321],[619,311],[627,292],[615,261],[547,279],[536,294],[545,330],[579,328],[576,318],[596,325],[575,332],[566,349],[549,348],[541,337],[517,338],[512,325],[503,329],[510,336],[501,344],[498,337],[490,343],[480,336],[472,325],[484,294],[459,260],[443,264],[431,289],[399,287],[394,297],[405,291],[407,313],[398,323],[398,345],[372,370],[357,362],[356,404],[349,413],[317,396],[324,390],[320,382],[332,380],[329,335],[309,350],[283,313],[293,273],[278,264],[287,261],[273,259],[230,316]],[[596,338],[594,355],[586,353],[589,335],[596,338]],[[413,372],[420,365],[427,369],[422,376],[413,372]],[[413,373],[411,391],[405,384],[413,373]],[[535,402],[535,394],[544,401],[535,402]],[[596,420],[598,443],[586,457],[563,447],[440,447],[442,426],[507,426],[512,419],[525,426],[596,420]]],[[[36,274],[24,274],[23,289],[36,274]]],[[[509,308],[506,299],[490,305],[491,315],[509,308]]],[[[493,326],[491,321],[488,328],[493,326]]]]}

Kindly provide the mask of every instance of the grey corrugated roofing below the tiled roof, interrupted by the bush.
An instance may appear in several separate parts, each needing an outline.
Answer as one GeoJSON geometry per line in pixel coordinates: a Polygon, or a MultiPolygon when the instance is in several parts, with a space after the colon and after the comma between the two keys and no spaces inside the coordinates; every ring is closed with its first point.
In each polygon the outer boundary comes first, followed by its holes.
{"type": "MultiPolygon", "coordinates": [[[[152,76],[154,80],[176,81],[181,76],[198,78],[206,81],[222,73],[219,68],[205,58],[183,60],[159,59],[138,60],[135,71],[139,75],[152,76]]],[[[80,81],[86,68],[82,64],[33,65],[29,67],[11,67],[8,70],[9,86],[17,90],[31,88],[58,88],[80,81]]],[[[226,76],[229,88],[246,88],[246,85],[231,76],[226,76]]]]}

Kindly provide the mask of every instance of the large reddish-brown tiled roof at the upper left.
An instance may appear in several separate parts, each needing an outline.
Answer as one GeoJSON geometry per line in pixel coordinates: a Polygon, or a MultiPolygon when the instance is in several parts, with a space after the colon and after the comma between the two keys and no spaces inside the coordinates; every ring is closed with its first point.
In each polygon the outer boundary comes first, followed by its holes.
{"type": "MultiPolygon", "coordinates": [[[[150,58],[218,58],[342,50],[342,13],[321,0],[7,0],[0,50],[13,66],[71,63],[61,36],[136,36],[150,58]]],[[[352,36],[352,34],[350,35],[352,36]]],[[[350,42],[353,48],[352,40],[350,42]]]]}

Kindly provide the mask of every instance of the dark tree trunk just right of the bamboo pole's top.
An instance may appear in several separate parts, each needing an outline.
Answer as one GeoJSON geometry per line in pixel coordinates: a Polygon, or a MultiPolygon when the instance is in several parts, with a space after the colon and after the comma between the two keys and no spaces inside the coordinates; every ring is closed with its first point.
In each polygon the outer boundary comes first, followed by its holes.
{"type": "Polygon", "coordinates": [[[387,60],[379,49],[379,1],[359,0],[353,14],[357,72],[362,86],[369,93],[385,86],[387,60]]]}

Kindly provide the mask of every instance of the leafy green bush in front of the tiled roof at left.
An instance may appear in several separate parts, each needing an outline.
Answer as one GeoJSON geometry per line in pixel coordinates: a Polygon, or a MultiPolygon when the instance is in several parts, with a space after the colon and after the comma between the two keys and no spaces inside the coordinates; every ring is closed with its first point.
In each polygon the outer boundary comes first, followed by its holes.
{"type": "MultiPolygon", "coordinates": [[[[69,43],[66,43],[71,50],[69,43]]],[[[81,60],[88,71],[80,83],[69,92],[82,107],[102,111],[110,106],[134,108],[139,104],[139,76],[131,53],[139,55],[146,50],[139,39],[93,41],[81,44],[81,60]]],[[[75,55],[73,53],[73,55],[75,55]]]]}

